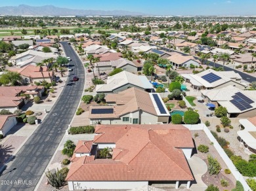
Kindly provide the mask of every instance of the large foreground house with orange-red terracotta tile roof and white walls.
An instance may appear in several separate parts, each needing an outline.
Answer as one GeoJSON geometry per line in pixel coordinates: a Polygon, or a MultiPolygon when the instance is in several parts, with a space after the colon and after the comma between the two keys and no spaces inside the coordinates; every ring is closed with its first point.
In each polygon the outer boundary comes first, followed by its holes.
{"type": "Polygon", "coordinates": [[[66,177],[70,190],[127,190],[149,181],[186,181],[189,188],[194,180],[186,161],[194,143],[182,125],[98,125],[95,133],[93,144],[98,150],[110,145],[112,156],[81,156],[72,162],[66,177]]]}

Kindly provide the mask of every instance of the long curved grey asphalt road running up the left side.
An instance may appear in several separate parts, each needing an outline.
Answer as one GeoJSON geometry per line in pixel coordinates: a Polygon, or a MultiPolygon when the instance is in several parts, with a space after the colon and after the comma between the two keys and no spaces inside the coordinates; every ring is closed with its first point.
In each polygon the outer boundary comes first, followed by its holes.
{"type": "Polygon", "coordinates": [[[83,93],[85,70],[74,49],[68,43],[62,43],[62,46],[66,56],[72,59],[70,65],[74,65],[74,71],[70,72],[66,86],[53,109],[16,154],[15,159],[7,165],[7,169],[0,177],[0,183],[12,181],[12,184],[10,182],[5,185],[0,184],[1,191],[33,190],[35,188],[75,114],[83,93]],[[77,75],[79,80],[70,82],[74,75],[77,75]]]}

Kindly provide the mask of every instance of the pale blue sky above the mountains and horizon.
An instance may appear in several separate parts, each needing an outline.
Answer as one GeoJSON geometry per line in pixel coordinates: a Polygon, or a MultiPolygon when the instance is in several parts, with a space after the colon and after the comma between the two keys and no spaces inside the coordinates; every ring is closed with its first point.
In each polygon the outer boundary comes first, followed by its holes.
{"type": "Polygon", "coordinates": [[[0,0],[0,6],[54,5],[69,9],[129,10],[157,15],[256,15],[256,0],[0,0]]]}

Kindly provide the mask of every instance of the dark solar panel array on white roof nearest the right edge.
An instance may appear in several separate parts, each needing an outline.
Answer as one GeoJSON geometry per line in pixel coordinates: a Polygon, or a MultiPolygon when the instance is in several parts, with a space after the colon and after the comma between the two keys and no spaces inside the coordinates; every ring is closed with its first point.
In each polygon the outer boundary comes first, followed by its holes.
{"type": "Polygon", "coordinates": [[[249,99],[249,97],[244,96],[244,94],[242,94],[241,92],[236,93],[232,97],[234,99],[232,99],[230,102],[234,106],[236,106],[240,111],[244,111],[244,110],[252,108],[252,106],[250,104],[254,103],[254,101],[249,99]]]}

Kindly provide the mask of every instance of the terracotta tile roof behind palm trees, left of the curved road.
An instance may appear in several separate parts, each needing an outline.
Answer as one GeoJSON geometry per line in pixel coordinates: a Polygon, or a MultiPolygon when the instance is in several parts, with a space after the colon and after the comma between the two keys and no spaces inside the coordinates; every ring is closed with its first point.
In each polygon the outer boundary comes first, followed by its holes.
{"type": "MultiPolygon", "coordinates": [[[[49,72],[47,71],[47,67],[43,66],[43,76],[40,71],[40,67],[35,66],[35,65],[26,65],[22,67],[21,69],[9,69],[10,71],[16,71],[20,73],[20,75],[24,77],[31,77],[31,78],[49,78],[49,72]]],[[[50,71],[50,75],[53,75],[53,71],[50,71]]]]}

